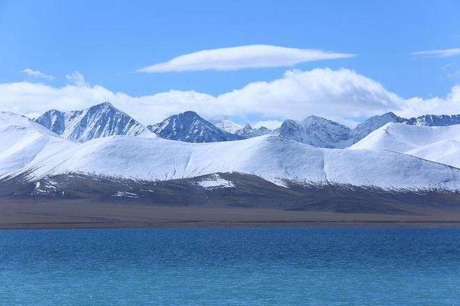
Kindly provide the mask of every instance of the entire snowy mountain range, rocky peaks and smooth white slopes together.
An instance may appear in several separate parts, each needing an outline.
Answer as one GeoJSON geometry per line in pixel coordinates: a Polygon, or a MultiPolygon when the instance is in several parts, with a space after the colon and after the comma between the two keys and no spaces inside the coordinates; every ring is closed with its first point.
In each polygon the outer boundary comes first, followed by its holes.
{"type": "MultiPolygon", "coordinates": [[[[0,137],[6,150],[0,153],[0,185],[13,186],[3,189],[10,195],[26,190],[24,194],[44,196],[57,191],[70,194],[72,177],[79,177],[78,184],[82,177],[91,177],[91,182],[116,178],[107,184],[116,188],[114,194],[123,191],[123,197],[130,193],[123,187],[127,180],[179,179],[190,188],[229,188],[240,193],[241,184],[222,179],[226,173],[238,173],[266,182],[243,179],[267,188],[260,193],[292,186],[344,186],[340,188],[347,190],[347,197],[353,194],[353,186],[369,188],[366,194],[378,188],[392,193],[457,192],[457,120],[459,116],[404,119],[386,113],[350,129],[309,116],[286,120],[274,131],[249,124],[236,129],[230,120],[222,122],[220,126],[233,129],[231,133],[192,111],[144,127],[107,102],[82,111],[48,111],[36,120],[1,112],[0,137]],[[210,179],[204,183],[195,179],[203,176],[210,179]],[[63,179],[68,190],[60,186],[63,179]]],[[[140,189],[132,193],[145,195],[140,189]]],[[[238,199],[240,203],[249,198],[238,199]]]]}

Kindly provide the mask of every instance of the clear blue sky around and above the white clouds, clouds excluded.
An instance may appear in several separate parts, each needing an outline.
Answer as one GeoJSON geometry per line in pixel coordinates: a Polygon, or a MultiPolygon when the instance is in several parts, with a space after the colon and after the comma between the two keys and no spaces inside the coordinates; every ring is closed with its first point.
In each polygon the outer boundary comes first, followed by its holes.
{"type": "Polygon", "coordinates": [[[40,82],[59,88],[78,71],[89,84],[136,97],[171,89],[220,95],[293,68],[354,70],[404,99],[445,97],[460,83],[460,56],[411,55],[460,48],[459,1],[0,0],[0,38],[0,83],[36,81],[22,72],[31,68],[54,76],[40,82]],[[242,45],[357,56],[292,67],[135,73],[194,51],[242,45]]]}

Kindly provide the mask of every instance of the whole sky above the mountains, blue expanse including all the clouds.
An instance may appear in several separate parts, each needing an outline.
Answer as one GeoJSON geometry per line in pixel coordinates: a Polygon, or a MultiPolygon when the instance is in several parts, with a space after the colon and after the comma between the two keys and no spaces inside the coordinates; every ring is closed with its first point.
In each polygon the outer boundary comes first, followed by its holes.
{"type": "Polygon", "coordinates": [[[460,113],[459,1],[0,0],[0,111],[460,113]]]}

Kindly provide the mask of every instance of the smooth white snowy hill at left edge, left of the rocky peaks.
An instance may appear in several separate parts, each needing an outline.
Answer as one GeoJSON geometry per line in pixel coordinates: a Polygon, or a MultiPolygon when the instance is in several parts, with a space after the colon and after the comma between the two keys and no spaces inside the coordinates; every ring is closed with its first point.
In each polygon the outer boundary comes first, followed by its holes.
{"type": "Polygon", "coordinates": [[[29,118],[15,113],[0,112],[0,177],[15,172],[50,156],[75,147],[29,118]]]}

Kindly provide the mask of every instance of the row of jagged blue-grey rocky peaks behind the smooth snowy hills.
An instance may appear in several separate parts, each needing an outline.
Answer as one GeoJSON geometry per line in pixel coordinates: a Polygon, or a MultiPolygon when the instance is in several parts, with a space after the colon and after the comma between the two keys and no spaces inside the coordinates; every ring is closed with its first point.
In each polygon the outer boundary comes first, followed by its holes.
{"type": "Polygon", "coordinates": [[[85,142],[94,138],[114,135],[148,136],[185,141],[188,143],[213,143],[240,140],[275,134],[315,147],[344,148],[365,138],[372,131],[389,122],[421,126],[446,126],[460,123],[460,115],[423,115],[401,118],[394,113],[376,115],[350,129],[342,124],[311,115],[303,120],[285,120],[275,130],[250,124],[239,124],[224,119],[214,124],[193,111],[171,115],[162,122],[144,127],[109,102],[97,104],[82,111],[50,110],[35,119],[54,133],[70,140],[85,142]]]}

